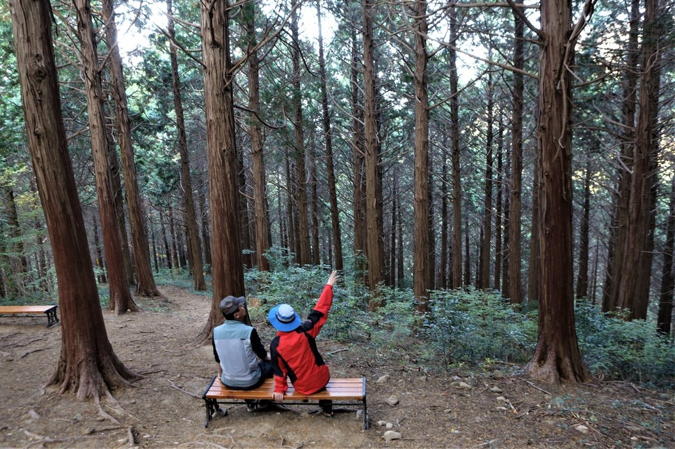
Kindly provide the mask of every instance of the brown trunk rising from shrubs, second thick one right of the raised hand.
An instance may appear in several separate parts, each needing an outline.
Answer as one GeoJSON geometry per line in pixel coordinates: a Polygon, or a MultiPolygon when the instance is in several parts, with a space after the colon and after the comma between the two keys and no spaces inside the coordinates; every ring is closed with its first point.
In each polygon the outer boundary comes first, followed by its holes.
{"type": "Polygon", "coordinates": [[[411,8],[415,33],[415,236],[413,294],[415,309],[429,309],[429,94],[427,92],[427,2],[411,8]]]}

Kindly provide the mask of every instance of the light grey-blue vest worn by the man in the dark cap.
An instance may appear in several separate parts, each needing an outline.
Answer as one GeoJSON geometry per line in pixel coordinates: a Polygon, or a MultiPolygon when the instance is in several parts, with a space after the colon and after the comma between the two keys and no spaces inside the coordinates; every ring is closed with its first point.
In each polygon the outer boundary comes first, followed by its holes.
{"type": "Polygon", "coordinates": [[[251,347],[251,331],[253,327],[235,320],[227,320],[214,328],[214,343],[223,368],[223,384],[247,387],[260,379],[257,355],[251,347]]]}

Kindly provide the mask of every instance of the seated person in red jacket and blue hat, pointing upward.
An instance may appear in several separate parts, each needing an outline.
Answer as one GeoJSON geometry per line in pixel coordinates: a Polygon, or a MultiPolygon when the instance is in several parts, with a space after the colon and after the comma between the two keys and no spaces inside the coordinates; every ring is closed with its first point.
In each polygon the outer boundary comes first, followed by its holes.
{"type": "MultiPolygon", "coordinates": [[[[328,365],[317,350],[315,338],[326,324],[336,280],[337,271],[333,271],[304,323],[288,304],[279,304],[267,314],[271,325],[278,330],[269,351],[274,373],[272,399],[275,402],[283,401],[288,390],[287,379],[291,380],[295,391],[306,395],[323,390],[331,379],[328,365]]],[[[319,407],[324,416],[333,416],[333,401],[319,400],[319,407]]]]}

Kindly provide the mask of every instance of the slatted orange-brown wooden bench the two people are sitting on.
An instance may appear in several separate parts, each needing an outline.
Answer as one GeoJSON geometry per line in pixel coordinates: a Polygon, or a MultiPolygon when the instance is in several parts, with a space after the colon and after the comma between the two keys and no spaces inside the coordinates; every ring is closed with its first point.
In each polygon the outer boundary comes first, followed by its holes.
{"type": "MultiPolygon", "coordinates": [[[[240,404],[244,400],[271,400],[274,391],[274,379],[265,379],[264,384],[255,390],[230,390],[223,385],[219,377],[213,377],[206,387],[202,398],[206,407],[206,423],[214,414],[221,412],[227,416],[228,411],[221,410],[219,404],[240,404]]],[[[324,391],[312,395],[303,395],[293,389],[289,383],[288,391],[280,405],[310,405],[309,400],[331,399],[340,401],[337,405],[360,405],[363,407],[363,428],[368,428],[368,409],[365,402],[365,377],[331,379],[324,391]]]]}

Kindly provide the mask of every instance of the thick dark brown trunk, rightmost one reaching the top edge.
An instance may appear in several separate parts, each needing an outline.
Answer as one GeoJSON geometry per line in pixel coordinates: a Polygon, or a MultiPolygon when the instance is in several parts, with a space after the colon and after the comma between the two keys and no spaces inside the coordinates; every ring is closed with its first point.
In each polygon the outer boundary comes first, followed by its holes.
{"type": "Polygon", "coordinates": [[[642,80],[640,82],[640,113],[637,117],[635,156],[633,158],[633,179],[630,185],[628,205],[628,228],[626,254],[622,260],[617,305],[630,309],[630,319],[646,318],[645,289],[649,290],[651,255],[649,231],[653,220],[653,184],[656,170],[652,170],[658,157],[656,141],[656,113],[658,110],[658,88],[660,70],[658,67],[658,45],[655,29],[658,0],[646,0],[644,12],[644,35],[642,38],[642,80]],[[645,270],[635,270],[644,267],[645,270]],[[649,268],[649,269],[648,269],[649,268]],[[626,276],[626,273],[633,275],[626,276]]]}

